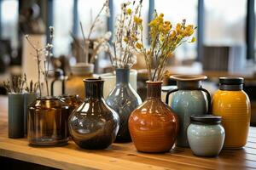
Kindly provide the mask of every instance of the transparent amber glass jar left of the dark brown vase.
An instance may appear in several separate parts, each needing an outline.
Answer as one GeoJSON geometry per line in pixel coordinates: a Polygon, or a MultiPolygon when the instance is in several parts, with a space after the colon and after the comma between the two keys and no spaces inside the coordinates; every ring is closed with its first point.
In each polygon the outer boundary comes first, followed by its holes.
{"type": "Polygon", "coordinates": [[[29,105],[27,139],[33,145],[62,145],[68,141],[68,105],[55,97],[38,98],[29,105]]]}

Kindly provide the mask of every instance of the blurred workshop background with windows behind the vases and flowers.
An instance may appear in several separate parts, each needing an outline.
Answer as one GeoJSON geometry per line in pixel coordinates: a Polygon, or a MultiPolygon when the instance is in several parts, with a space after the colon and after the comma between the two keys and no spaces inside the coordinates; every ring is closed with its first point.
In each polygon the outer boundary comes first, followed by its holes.
{"type": "MultiPolygon", "coordinates": [[[[38,35],[48,41],[46,31],[55,27],[54,58],[52,67],[70,74],[69,67],[79,62],[79,51],[73,37],[82,40],[79,27],[88,32],[105,0],[0,0],[0,94],[6,94],[3,80],[19,75],[26,62],[24,35],[38,35]],[[73,37],[71,36],[73,35],[73,37]]],[[[121,0],[109,0],[110,18],[105,17],[92,38],[114,31],[114,23],[120,11],[121,0]]],[[[177,49],[169,61],[167,70],[172,74],[204,74],[208,77],[208,88],[218,88],[218,77],[237,76],[246,80],[245,90],[256,108],[256,5],[254,0],[144,0],[144,34],[148,37],[146,22],[152,19],[154,8],[165,14],[173,24],[187,19],[198,26],[197,42],[187,43],[177,49]]],[[[100,54],[95,63],[95,73],[112,71],[108,56],[100,54]]],[[[143,82],[145,65],[137,57],[139,94],[145,91],[143,82]]],[[[165,84],[174,82],[166,77],[165,84]]],[[[211,90],[212,89],[212,90],[211,90]]]]}

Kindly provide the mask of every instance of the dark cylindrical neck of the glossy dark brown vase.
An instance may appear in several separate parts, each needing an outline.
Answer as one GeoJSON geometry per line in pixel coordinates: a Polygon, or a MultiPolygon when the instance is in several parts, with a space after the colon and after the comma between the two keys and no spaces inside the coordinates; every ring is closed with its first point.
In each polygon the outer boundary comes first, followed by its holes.
{"type": "Polygon", "coordinates": [[[89,78],[84,80],[85,99],[96,98],[102,99],[103,96],[103,80],[89,78]]]}

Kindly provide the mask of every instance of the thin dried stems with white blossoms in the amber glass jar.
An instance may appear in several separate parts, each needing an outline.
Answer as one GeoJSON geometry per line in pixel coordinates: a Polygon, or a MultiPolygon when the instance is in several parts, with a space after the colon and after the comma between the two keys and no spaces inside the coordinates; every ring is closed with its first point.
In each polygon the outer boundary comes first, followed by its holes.
{"type": "Polygon", "coordinates": [[[32,44],[30,37],[26,35],[27,42],[31,45],[31,47],[35,51],[35,54],[32,54],[32,56],[34,56],[38,66],[38,82],[36,82],[35,84],[37,84],[38,86],[40,98],[42,97],[42,90],[43,90],[43,84],[44,84],[43,82],[41,82],[41,73],[44,76],[47,96],[49,96],[48,76],[49,76],[50,57],[53,56],[52,54],[53,37],[54,37],[54,27],[49,26],[49,42],[45,45],[44,48],[38,48],[36,45],[32,44]],[[41,68],[41,62],[43,62],[43,65],[44,65],[43,68],[41,68]]]}

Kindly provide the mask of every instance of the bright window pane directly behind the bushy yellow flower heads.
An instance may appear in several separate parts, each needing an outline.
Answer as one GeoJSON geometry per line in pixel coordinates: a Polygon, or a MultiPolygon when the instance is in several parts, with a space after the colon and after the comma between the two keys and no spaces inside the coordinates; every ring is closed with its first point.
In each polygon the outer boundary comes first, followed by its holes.
{"type": "MultiPolygon", "coordinates": [[[[165,20],[170,20],[172,26],[177,22],[187,20],[187,24],[197,25],[198,0],[155,0],[155,9],[158,13],[165,14],[165,20]]],[[[194,33],[196,37],[196,31],[194,33]]],[[[175,52],[177,59],[195,59],[197,55],[196,43],[185,43],[175,52]]]]}

